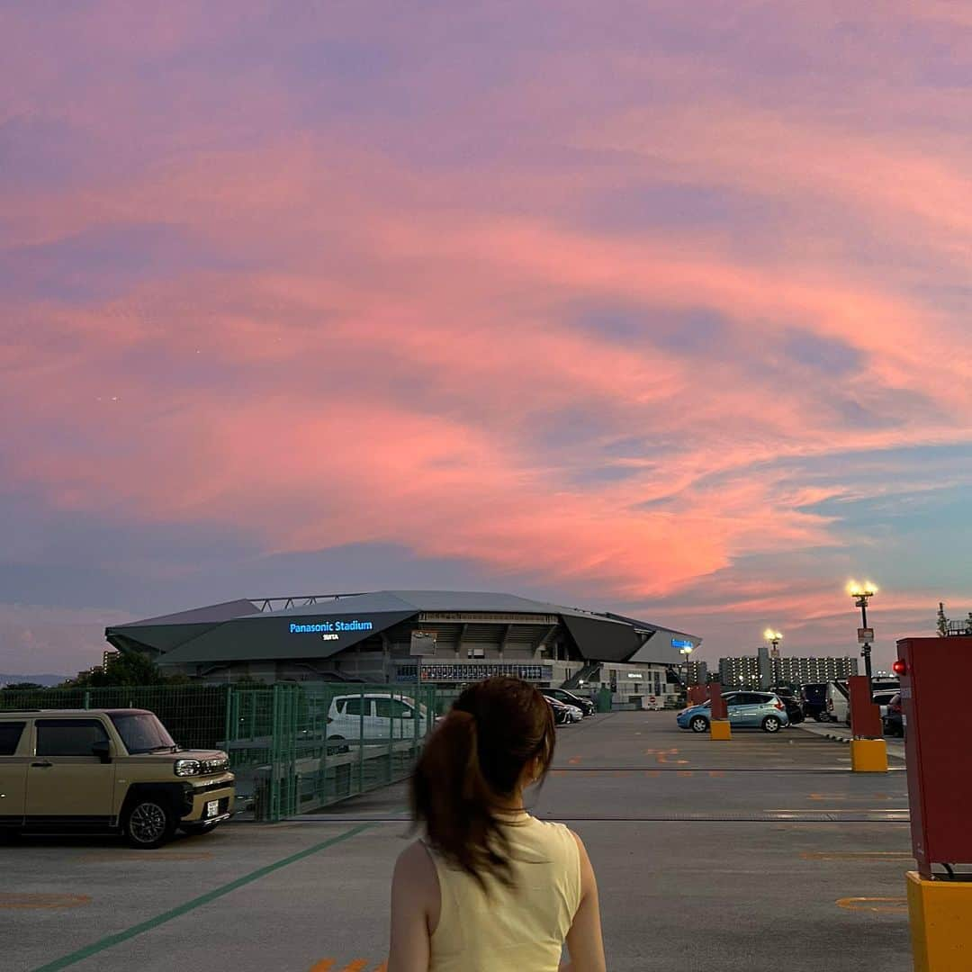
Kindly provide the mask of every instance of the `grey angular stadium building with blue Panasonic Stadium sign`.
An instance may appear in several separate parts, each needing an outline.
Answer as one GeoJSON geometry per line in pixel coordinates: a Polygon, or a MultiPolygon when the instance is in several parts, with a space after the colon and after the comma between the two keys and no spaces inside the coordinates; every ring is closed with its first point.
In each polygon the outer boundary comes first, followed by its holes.
{"type": "MultiPolygon", "coordinates": [[[[608,685],[661,706],[694,635],[610,612],[478,591],[376,591],[230,601],[107,628],[120,651],[203,681],[421,681],[513,675],[608,685]]],[[[642,703],[643,700],[643,703],[642,703]]]]}

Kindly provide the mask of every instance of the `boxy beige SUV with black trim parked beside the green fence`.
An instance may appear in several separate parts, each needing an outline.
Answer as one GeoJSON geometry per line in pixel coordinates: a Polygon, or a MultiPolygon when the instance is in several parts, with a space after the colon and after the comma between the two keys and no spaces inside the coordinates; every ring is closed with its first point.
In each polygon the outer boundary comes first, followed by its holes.
{"type": "Polygon", "coordinates": [[[225,752],[180,749],[144,709],[0,712],[0,832],[121,830],[156,848],[233,811],[225,752]]]}

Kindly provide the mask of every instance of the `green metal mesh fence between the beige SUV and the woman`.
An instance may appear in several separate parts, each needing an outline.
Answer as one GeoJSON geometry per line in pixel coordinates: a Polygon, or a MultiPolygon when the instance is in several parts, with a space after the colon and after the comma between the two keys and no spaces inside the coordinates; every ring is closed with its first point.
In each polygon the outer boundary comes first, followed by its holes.
{"type": "Polygon", "coordinates": [[[0,709],[148,709],[173,739],[229,753],[237,812],[312,813],[407,778],[451,704],[425,685],[280,682],[0,691],[0,709]]]}

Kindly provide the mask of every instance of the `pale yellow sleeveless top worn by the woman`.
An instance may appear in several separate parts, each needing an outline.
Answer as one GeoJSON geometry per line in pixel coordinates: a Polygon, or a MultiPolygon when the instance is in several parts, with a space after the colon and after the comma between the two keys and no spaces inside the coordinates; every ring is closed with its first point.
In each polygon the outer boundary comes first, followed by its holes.
{"type": "Polygon", "coordinates": [[[429,972],[557,972],[580,905],[580,852],[563,823],[512,817],[514,885],[487,877],[489,896],[431,851],[441,910],[429,972]]]}

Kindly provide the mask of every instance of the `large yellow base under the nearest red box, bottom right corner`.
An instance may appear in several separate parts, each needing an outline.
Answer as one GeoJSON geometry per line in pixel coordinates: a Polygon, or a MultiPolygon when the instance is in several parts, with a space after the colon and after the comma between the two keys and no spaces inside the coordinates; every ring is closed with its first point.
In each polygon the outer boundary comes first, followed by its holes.
{"type": "Polygon", "coordinates": [[[926,881],[909,871],[908,920],[915,972],[972,968],[972,883],[926,881]]]}

